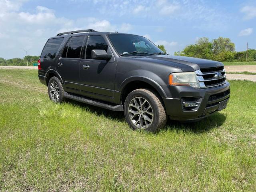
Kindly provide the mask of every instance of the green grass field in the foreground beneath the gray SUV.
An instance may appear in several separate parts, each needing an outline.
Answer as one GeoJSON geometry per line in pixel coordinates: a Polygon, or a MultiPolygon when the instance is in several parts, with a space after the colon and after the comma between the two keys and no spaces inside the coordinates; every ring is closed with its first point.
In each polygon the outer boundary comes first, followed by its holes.
{"type": "Polygon", "coordinates": [[[230,83],[225,110],[148,134],[54,104],[36,70],[0,70],[0,191],[255,191],[256,83],[230,83]]]}

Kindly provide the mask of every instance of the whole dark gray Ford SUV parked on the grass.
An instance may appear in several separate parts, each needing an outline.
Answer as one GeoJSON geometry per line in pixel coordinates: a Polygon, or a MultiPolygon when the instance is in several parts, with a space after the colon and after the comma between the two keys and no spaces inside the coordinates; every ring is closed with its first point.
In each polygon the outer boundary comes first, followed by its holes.
{"type": "Polygon", "coordinates": [[[156,131],[167,117],[197,121],[226,108],[221,62],[170,56],[145,37],[92,29],[57,34],[38,60],[53,102],[69,98],[124,111],[132,129],[156,131]]]}

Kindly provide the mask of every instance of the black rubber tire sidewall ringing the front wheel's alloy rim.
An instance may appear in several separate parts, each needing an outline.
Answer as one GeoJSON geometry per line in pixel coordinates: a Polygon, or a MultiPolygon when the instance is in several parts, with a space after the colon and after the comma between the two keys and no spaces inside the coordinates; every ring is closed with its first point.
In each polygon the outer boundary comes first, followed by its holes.
{"type": "MultiPolygon", "coordinates": [[[[152,92],[152,91],[151,91],[152,92]]],[[[126,121],[128,122],[130,128],[134,129],[134,130],[146,130],[146,131],[150,131],[150,132],[154,132],[158,129],[158,122],[159,122],[159,109],[155,103],[154,98],[152,98],[152,96],[150,96],[150,94],[148,94],[147,92],[143,92],[143,91],[139,91],[139,90],[134,90],[133,92],[131,92],[130,94],[128,94],[128,96],[126,97],[126,100],[124,102],[124,116],[126,118],[126,121]],[[129,104],[131,102],[131,100],[133,98],[136,97],[142,97],[145,98],[146,100],[148,100],[148,102],[150,103],[150,105],[152,106],[152,110],[154,112],[154,118],[153,118],[153,122],[152,124],[146,128],[146,129],[140,129],[137,128],[132,121],[130,120],[129,114],[128,114],[128,107],[129,104]]]]}

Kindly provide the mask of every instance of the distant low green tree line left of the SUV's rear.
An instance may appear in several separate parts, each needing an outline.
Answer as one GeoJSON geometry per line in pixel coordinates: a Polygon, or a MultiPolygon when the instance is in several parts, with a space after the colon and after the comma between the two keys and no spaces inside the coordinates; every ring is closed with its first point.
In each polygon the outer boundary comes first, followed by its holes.
{"type": "MultiPolygon", "coordinates": [[[[28,65],[33,65],[38,62],[40,56],[31,56],[28,55],[28,65]]],[[[27,65],[27,58],[12,58],[12,59],[4,59],[0,58],[0,66],[23,66],[27,65]]]]}

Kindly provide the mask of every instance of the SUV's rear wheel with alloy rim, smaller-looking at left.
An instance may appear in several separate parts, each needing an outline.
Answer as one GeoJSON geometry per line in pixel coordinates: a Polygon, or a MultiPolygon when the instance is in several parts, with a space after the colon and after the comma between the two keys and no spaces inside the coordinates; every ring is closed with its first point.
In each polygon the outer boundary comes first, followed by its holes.
{"type": "Polygon", "coordinates": [[[57,77],[52,77],[48,83],[48,95],[50,100],[55,103],[64,101],[64,89],[62,83],[57,77]]]}

